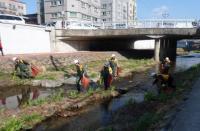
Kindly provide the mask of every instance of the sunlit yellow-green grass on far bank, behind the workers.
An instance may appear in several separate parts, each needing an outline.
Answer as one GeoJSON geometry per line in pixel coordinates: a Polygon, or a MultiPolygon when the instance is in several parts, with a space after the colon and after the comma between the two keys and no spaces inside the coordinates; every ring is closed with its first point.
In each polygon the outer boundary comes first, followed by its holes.
{"type": "MultiPolygon", "coordinates": [[[[100,75],[100,70],[102,69],[104,63],[106,61],[91,61],[88,63],[84,63],[83,65],[86,66],[87,73],[91,79],[98,78],[100,75]]],[[[121,76],[124,76],[127,73],[144,70],[146,67],[155,64],[153,59],[127,59],[127,60],[120,60],[119,66],[122,68],[121,76]]],[[[73,74],[70,74],[71,71],[75,71],[74,65],[69,65],[66,67],[61,67],[59,71],[55,69],[48,69],[44,72],[41,72],[38,76],[34,79],[20,79],[17,76],[9,73],[0,72],[0,80],[5,81],[4,83],[8,83],[8,86],[14,85],[31,85],[32,80],[59,80],[63,79],[65,76],[69,77],[73,74]]],[[[6,84],[5,84],[6,86],[6,84]]]]}

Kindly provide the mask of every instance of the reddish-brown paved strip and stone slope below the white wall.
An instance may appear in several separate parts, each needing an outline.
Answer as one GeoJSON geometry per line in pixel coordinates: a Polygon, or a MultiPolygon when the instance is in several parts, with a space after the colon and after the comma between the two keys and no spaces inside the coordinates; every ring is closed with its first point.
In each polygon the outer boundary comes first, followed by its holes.
{"type": "MultiPolygon", "coordinates": [[[[56,53],[56,54],[29,54],[29,55],[17,55],[22,59],[27,60],[39,67],[54,68],[55,65],[63,67],[73,64],[74,59],[79,59],[81,63],[87,63],[89,61],[105,60],[110,58],[112,54],[116,54],[119,60],[125,60],[124,54],[118,52],[76,52],[76,53],[56,53]],[[51,57],[52,56],[52,57],[51,57]]],[[[12,57],[16,55],[0,56],[0,71],[1,72],[13,72],[14,63],[12,57]]],[[[103,66],[103,65],[102,65],[103,66]]]]}

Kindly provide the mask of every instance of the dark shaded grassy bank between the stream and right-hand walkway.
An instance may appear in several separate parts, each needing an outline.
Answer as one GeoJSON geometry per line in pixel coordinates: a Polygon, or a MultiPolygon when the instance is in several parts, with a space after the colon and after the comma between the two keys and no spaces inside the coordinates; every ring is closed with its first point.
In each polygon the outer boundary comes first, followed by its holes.
{"type": "Polygon", "coordinates": [[[160,130],[167,125],[170,114],[176,105],[184,99],[185,93],[192,89],[194,82],[200,77],[200,64],[192,68],[178,72],[174,75],[177,90],[171,94],[153,93],[145,94],[143,103],[135,103],[128,100],[125,107],[114,112],[112,125],[105,130],[133,130],[147,131],[160,130]],[[127,113],[128,112],[128,113],[127,113]],[[169,115],[169,116],[168,116],[169,115]]]}

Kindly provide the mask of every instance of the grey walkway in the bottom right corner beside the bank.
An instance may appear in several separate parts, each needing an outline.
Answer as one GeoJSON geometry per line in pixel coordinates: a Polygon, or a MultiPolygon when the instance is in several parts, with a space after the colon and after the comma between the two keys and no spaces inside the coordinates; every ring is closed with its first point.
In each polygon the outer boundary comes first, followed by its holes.
{"type": "Polygon", "coordinates": [[[200,131],[200,78],[168,131],[200,131]]]}

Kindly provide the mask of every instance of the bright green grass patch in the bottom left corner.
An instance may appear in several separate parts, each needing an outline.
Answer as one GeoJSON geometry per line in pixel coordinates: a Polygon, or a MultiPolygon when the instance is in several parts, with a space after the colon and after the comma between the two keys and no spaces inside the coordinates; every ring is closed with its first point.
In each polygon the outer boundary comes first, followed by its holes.
{"type": "Polygon", "coordinates": [[[22,129],[31,128],[31,123],[40,122],[43,117],[39,114],[22,115],[20,117],[12,117],[7,119],[0,127],[1,131],[20,131],[22,129]]]}

